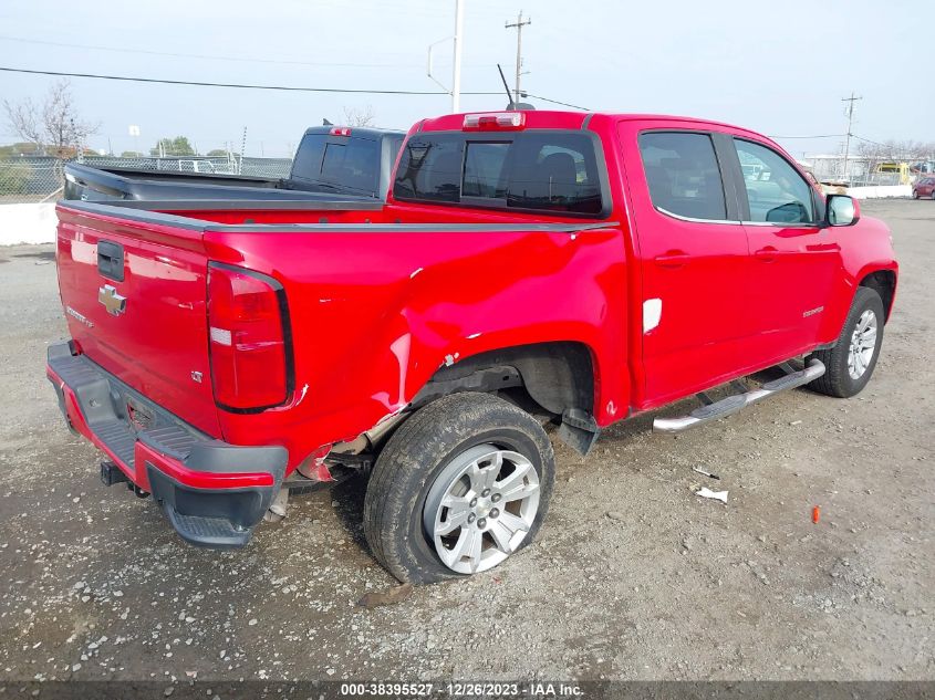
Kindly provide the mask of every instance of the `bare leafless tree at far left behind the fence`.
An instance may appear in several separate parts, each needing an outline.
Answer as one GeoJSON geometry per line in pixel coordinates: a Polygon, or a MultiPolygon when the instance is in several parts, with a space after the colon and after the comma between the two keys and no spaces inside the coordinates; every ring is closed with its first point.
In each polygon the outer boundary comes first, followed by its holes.
{"type": "Polygon", "coordinates": [[[4,100],[3,107],[17,134],[59,158],[80,150],[87,137],[101,126],[100,123],[85,122],[79,116],[71,83],[64,80],[49,88],[41,107],[30,98],[19,103],[4,100]]]}

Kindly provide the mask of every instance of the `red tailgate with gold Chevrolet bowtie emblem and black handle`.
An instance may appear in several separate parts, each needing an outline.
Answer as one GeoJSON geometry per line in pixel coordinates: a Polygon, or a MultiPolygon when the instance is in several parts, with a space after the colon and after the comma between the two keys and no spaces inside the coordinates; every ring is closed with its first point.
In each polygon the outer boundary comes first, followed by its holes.
{"type": "Polygon", "coordinates": [[[89,359],[219,437],[199,227],[101,210],[58,207],[59,289],[72,338],[89,359]]]}

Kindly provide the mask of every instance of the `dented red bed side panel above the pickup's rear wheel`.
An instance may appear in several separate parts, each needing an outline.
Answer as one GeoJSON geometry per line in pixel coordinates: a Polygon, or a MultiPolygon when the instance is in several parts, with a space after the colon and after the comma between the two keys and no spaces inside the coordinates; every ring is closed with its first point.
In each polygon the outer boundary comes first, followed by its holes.
{"type": "Polygon", "coordinates": [[[209,257],[285,289],[295,395],[221,412],[235,443],[284,443],[294,467],[403,409],[446,358],[550,341],[592,348],[595,415],[627,405],[626,265],[619,228],[543,232],[206,233],[209,257]],[[609,409],[610,407],[610,409],[609,409]]]}

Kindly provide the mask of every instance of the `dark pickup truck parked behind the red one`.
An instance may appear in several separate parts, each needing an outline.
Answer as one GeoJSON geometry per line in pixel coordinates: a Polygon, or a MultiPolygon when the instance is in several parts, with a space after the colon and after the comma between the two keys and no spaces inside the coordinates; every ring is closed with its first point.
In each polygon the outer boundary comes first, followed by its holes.
{"type": "MultiPolygon", "coordinates": [[[[152,202],[194,199],[201,207],[210,200],[237,207],[242,200],[295,200],[309,206],[310,200],[335,196],[383,199],[404,136],[403,132],[391,129],[313,126],[299,143],[288,178],[69,163],[64,199],[152,202]]],[[[148,206],[158,207],[158,203],[148,206]]]]}

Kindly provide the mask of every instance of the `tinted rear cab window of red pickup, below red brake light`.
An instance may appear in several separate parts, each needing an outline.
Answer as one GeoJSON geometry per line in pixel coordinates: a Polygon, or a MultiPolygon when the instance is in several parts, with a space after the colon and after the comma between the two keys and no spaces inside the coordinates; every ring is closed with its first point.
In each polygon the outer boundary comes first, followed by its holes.
{"type": "Polygon", "coordinates": [[[594,140],[579,132],[414,134],[393,195],[402,201],[594,216],[604,211],[599,173],[594,140]]]}

